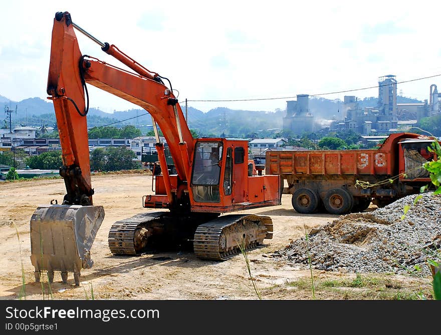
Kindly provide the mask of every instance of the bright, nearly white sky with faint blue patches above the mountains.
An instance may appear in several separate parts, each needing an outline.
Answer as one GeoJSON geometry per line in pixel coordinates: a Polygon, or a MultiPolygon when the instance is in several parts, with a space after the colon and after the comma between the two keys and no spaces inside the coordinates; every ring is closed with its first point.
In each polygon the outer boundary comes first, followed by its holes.
{"type": "MultiPolygon", "coordinates": [[[[285,110],[286,97],[323,94],[441,74],[439,2],[368,1],[2,2],[0,95],[46,99],[56,12],[102,42],[116,45],[171,80],[179,101],[283,98],[247,102],[188,102],[216,107],[285,110]]],[[[80,50],[119,62],[77,32],[80,50]]],[[[398,84],[398,93],[429,99],[441,76],[398,84]]],[[[441,91],[441,86],[438,89],[441,91]]],[[[90,106],[111,113],[139,108],[89,85],[90,106]]],[[[378,95],[377,89],[323,95],[378,95]]],[[[181,103],[183,106],[184,103],[181,103]]]]}

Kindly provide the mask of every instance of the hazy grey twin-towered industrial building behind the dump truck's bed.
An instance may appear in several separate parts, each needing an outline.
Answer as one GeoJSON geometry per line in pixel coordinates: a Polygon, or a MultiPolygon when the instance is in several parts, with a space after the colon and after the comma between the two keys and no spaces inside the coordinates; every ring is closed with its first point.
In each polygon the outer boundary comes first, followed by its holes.
{"type": "Polygon", "coordinates": [[[291,131],[296,136],[314,131],[314,117],[309,110],[308,94],[298,94],[297,101],[287,101],[283,129],[291,131]]]}

